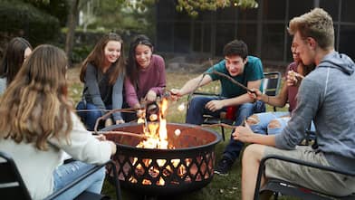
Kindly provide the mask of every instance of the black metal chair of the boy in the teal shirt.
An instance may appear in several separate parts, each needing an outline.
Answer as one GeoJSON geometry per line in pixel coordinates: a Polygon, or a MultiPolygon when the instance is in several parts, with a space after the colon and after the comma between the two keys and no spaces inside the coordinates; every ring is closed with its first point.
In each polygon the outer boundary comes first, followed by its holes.
{"type": "MultiPolygon", "coordinates": [[[[263,80],[264,94],[267,94],[269,96],[276,96],[279,92],[280,84],[281,84],[281,73],[279,71],[264,72],[264,80],[263,80]]],[[[194,92],[193,95],[194,96],[196,95],[215,96],[217,98],[222,99],[221,95],[216,93],[194,92]]],[[[189,102],[189,98],[187,99],[187,102],[189,102]]],[[[187,109],[188,108],[189,106],[187,106],[187,109]]],[[[234,123],[233,119],[225,118],[226,116],[225,113],[222,113],[220,116],[221,116],[220,118],[216,118],[210,115],[204,115],[203,124],[212,125],[212,124],[224,123],[224,124],[232,125],[234,123]]],[[[225,129],[223,126],[221,126],[221,133],[222,133],[222,138],[225,141],[225,129]]]]}

